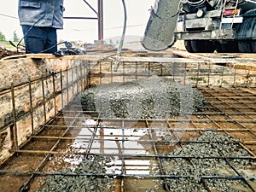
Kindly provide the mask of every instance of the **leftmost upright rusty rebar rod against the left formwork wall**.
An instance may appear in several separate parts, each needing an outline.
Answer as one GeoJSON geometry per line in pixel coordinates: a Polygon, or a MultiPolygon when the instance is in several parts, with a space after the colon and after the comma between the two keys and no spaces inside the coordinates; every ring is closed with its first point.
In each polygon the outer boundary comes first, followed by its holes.
{"type": "Polygon", "coordinates": [[[17,119],[16,119],[16,111],[15,111],[15,85],[11,83],[11,95],[12,95],[12,114],[13,114],[13,134],[14,134],[14,143],[15,148],[19,150],[19,143],[18,143],[18,132],[17,132],[17,119]]]}

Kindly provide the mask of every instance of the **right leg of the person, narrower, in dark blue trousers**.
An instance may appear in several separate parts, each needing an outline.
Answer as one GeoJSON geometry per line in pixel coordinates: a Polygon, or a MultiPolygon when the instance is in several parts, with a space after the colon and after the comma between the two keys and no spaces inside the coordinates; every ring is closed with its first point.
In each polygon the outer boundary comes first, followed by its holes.
{"type": "Polygon", "coordinates": [[[46,40],[46,51],[45,53],[57,52],[57,32],[55,28],[46,27],[47,40],[46,40]]]}

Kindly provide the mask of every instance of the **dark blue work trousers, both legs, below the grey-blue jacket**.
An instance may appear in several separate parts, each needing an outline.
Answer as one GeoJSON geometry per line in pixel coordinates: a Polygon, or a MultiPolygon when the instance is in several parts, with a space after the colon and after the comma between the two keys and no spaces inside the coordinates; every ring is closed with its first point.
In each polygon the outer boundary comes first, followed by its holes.
{"type": "Polygon", "coordinates": [[[27,54],[55,53],[57,32],[53,27],[22,26],[27,54]]]}

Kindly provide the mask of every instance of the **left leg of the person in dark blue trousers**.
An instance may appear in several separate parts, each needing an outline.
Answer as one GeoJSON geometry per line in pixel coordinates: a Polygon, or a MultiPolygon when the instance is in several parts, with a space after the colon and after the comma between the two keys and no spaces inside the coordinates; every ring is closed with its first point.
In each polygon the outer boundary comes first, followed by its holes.
{"type": "Polygon", "coordinates": [[[41,53],[45,49],[47,34],[44,27],[22,26],[26,53],[41,53]]]}

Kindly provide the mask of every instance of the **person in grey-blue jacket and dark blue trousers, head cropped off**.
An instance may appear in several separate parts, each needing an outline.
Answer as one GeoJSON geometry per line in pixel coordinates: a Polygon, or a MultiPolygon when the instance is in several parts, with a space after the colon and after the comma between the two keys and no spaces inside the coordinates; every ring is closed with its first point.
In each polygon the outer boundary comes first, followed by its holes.
{"type": "Polygon", "coordinates": [[[63,11],[63,0],[19,0],[26,53],[57,52],[56,30],[63,28],[63,11]]]}

